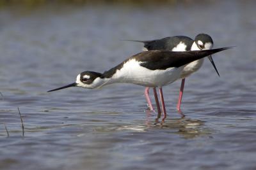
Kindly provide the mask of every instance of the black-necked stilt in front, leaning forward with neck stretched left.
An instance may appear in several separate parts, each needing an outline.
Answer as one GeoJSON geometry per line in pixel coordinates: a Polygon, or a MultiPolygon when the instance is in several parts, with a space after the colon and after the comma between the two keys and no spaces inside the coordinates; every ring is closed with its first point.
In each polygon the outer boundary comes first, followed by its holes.
{"type": "Polygon", "coordinates": [[[166,117],[162,87],[179,79],[186,64],[212,55],[213,53],[227,50],[228,48],[230,47],[189,52],[161,50],[141,52],[129,57],[121,64],[118,64],[104,73],[84,71],[77,75],[75,83],[49,90],[48,92],[68,87],[97,89],[113,83],[132,83],[144,87],[158,87],[162,111],[164,117],[166,117]]]}

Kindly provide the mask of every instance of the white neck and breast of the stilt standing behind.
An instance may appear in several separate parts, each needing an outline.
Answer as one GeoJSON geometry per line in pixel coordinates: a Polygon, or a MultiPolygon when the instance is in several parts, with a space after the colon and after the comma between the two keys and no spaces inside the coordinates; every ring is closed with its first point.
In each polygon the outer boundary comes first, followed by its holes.
{"type": "MultiPolygon", "coordinates": [[[[196,43],[194,42],[191,46],[191,51],[193,50],[200,50],[196,43]]],[[[180,78],[186,78],[190,74],[194,73],[195,71],[198,71],[202,64],[204,63],[204,58],[200,60],[195,60],[193,62],[190,62],[188,65],[186,65],[180,75],[180,78]]]]}

